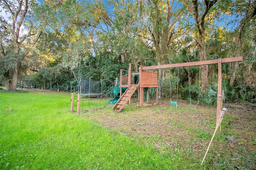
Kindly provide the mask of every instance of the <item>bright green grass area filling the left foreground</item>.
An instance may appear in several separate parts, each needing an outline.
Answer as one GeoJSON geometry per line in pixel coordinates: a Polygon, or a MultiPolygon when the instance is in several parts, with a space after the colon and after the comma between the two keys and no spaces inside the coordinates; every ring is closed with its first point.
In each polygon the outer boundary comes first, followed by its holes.
{"type": "Polygon", "coordinates": [[[200,169],[196,160],[182,160],[180,150],[157,152],[70,113],[70,99],[70,94],[0,92],[1,170],[200,169]]]}

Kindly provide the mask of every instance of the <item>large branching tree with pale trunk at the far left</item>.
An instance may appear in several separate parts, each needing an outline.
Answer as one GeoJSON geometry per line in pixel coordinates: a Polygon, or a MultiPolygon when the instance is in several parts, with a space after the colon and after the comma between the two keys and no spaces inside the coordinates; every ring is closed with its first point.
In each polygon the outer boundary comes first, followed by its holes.
{"type": "Polygon", "coordinates": [[[16,90],[20,67],[40,38],[46,22],[35,20],[34,12],[38,8],[35,0],[2,0],[1,8],[10,15],[8,19],[1,17],[0,24],[0,71],[9,91],[16,90]]]}

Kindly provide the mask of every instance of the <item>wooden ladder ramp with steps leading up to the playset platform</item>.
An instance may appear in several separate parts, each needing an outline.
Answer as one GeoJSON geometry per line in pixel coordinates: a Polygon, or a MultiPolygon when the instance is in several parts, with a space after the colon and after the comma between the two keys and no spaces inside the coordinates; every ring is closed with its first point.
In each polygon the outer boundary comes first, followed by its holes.
{"type": "Polygon", "coordinates": [[[139,87],[139,83],[136,85],[130,85],[124,94],[120,97],[120,99],[116,102],[116,104],[112,107],[112,110],[119,113],[122,111],[126,103],[131,99],[133,93],[136,91],[136,89],[139,87]]]}

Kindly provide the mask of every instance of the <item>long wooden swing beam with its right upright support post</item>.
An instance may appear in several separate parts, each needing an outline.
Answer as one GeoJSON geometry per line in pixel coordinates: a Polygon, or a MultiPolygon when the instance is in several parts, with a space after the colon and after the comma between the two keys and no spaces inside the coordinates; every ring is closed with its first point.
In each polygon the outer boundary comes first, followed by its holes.
{"type": "MultiPolygon", "coordinates": [[[[206,61],[194,61],[187,63],[175,63],[175,64],[166,64],[166,65],[155,65],[155,66],[142,66],[142,70],[150,70],[150,69],[166,69],[166,68],[175,68],[175,67],[189,67],[195,65],[208,65],[208,64],[218,64],[218,95],[217,97],[222,96],[222,65],[221,63],[232,63],[243,61],[243,57],[231,57],[231,58],[219,58],[214,60],[206,60],[206,61]]],[[[217,100],[217,110],[216,110],[216,123],[218,121],[218,117],[220,114],[220,103],[217,100]]]]}

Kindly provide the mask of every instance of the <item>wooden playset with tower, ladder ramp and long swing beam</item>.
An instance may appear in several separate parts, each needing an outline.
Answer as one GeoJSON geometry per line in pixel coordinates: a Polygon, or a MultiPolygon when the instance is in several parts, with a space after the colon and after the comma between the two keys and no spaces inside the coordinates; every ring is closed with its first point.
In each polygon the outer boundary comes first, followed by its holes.
{"type": "MultiPolygon", "coordinates": [[[[175,67],[189,67],[195,65],[209,65],[209,64],[218,64],[218,99],[223,97],[222,93],[222,63],[231,63],[243,61],[243,57],[231,57],[231,58],[219,58],[214,60],[206,60],[206,61],[194,61],[187,63],[175,63],[175,64],[166,64],[166,65],[155,65],[155,66],[140,66],[139,72],[132,72],[132,64],[129,65],[128,75],[123,75],[123,70],[120,70],[120,88],[127,87],[126,91],[121,95],[120,99],[116,102],[116,104],[112,107],[112,110],[119,113],[122,111],[124,106],[130,98],[132,94],[139,88],[138,99],[140,101],[140,107],[143,107],[143,90],[147,87],[158,87],[158,77],[157,72],[148,71],[152,69],[164,69],[164,68],[175,68],[175,67]],[[138,75],[138,82],[135,83],[135,75],[138,75]]],[[[147,88],[148,89],[148,88],[147,88]]],[[[121,91],[121,90],[120,90],[121,91]]],[[[158,90],[156,90],[158,93],[158,90]]],[[[148,96],[148,90],[147,90],[148,96]]],[[[148,97],[147,97],[148,99],[148,97]]],[[[158,100],[158,95],[156,95],[156,100],[158,100]]],[[[130,103],[130,102],[129,102],[130,103]]],[[[217,102],[216,109],[216,122],[218,121],[218,117],[221,111],[220,102],[217,102]]]]}

